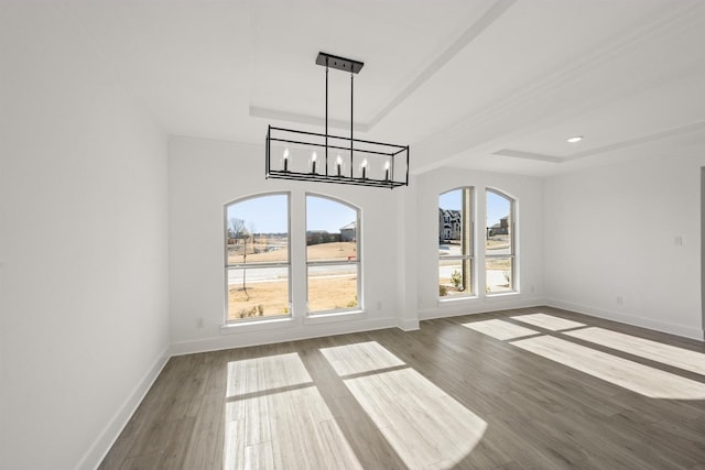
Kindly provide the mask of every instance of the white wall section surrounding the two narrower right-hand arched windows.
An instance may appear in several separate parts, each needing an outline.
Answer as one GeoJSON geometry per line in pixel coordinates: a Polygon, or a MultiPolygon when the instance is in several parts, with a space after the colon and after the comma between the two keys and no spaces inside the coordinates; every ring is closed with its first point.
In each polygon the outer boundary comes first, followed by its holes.
{"type": "MultiPolygon", "coordinates": [[[[543,303],[543,182],[541,178],[458,168],[435,170],[416,177],[417,306],[420,318],[435,318],[543,303]],[[516,199],[518,292],[487,295],[481,239],[476,240],[477,296],[438,302],[438,195],[462,186],[475,188],[477,237],[484,237],[485,189],[499,189],[516,199]]],[[[411,255],[411,253],[410,253],[411,255]]]]}

